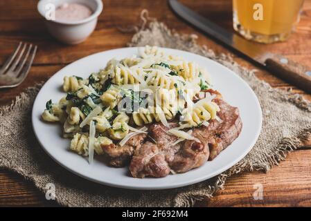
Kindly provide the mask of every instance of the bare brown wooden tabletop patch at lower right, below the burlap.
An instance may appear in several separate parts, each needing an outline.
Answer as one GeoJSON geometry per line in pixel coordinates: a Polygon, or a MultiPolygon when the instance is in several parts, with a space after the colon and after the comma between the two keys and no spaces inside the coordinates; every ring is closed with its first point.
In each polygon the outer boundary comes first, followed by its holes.
{"type": "Polygon", "coordinates": [[[234,175],[208,206],[310,206],[311,155],[307,153],[290,153],[267,174],[254,171],[234,175]],[[263,200],[254,199],[258,184],[263,186],[263,200]]]}

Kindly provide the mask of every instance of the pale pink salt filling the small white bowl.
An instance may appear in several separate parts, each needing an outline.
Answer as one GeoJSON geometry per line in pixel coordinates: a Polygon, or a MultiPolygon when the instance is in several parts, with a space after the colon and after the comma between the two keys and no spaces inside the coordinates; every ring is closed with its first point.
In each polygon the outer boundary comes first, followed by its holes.
{"type": "Polygon", "coordinates": [[[93,14],[92,10],[79,3],[64,3],[55,10],[58,21],[80,21],[93,14]]]}

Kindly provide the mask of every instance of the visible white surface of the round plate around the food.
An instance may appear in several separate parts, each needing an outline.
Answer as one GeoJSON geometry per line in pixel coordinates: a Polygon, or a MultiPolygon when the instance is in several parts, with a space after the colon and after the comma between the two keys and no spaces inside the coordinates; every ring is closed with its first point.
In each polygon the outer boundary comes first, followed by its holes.
{"type": "Polygon", "coordinates": [[[104,68],[107,61],[112,58],[121,59],[136,54],[137,48],[121,48],[90,55],[62,68],[46,81],[35,99],[32,116],[35,135],[46,153],[64,168],[81,177],[125,189],[170,189],[195,184],[222,173],[242,160],[258,139],[262,123],[260,104],[253,90],[236,73],[211,59],[181,50],[164,50],[205,67],[211,74],[213,86],[222,93],[226,102],[240,109],[242,132],[215,160],[206,162],[203,166],[187,173],[168,175],[163,178],[133,178],[130,177],[127,167],[112,168],[100,160],[94,160],[90,165],[87,159],[69,151],[70,140],[62,138],[60,125],[42,122],[40,115],[45,109],[46,102],[49,99],[58,102],[65,95],[61,90],[64,76],[88,77],[91,73],[104,68]]]}

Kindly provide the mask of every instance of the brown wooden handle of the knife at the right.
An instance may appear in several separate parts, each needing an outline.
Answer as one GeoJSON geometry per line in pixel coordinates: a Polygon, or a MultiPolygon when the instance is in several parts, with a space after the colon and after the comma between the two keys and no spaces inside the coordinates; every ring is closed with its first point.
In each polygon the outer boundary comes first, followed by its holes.
{"type": "Polygon", "coordinates": [[[311,68],[291,61],[281,55],[271,55],[265,60],[268,70],[290,84],[311,93],[311,68]]]}

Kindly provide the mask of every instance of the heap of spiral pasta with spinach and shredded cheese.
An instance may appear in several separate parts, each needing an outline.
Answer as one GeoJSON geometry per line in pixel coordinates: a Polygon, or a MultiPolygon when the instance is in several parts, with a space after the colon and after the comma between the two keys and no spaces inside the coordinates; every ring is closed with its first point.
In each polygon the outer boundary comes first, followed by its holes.
{"type": "Polygon", "coordinates": [[[213,97],[199,96],[211,86],[206,76],[194,62],[145,46],[138,55],[110,60],[85,79],[64,77],[67,95],[58,104],[48,101],[42,118],[60,122],[64,137],[72,138],[70,149],[89,155],[91,162],[94,151],[103,155],[103,146],[123,146],[133,135],[147,133],[147,127],[134,125],[161,122],[169,128],[168,121],[180,116],[186,121],[179,122],[184,129],[217,119],[213,97]]]}

